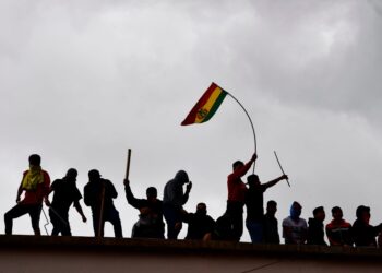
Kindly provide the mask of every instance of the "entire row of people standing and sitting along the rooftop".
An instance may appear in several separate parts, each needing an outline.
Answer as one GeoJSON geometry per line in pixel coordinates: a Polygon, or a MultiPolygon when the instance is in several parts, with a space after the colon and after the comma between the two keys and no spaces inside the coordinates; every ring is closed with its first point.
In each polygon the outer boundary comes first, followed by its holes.
{"type": "MultiPolygon", "coordinates": [[[[186,239],[195,240],[232,240],[240,241],[243,224],[253,244],[279,244],[278,221],[275,217],[277,203],[273,200],[266,204],[264,212],[264,192],[288,176],[283,175],[274,180],[262,183],[259,176],[252,174],[247,177],[247,185],[241,180],[255,163],[258,156],[247,162],[237,161],[232,164],[232,171],[228,175],[227,207],[225,213],[214,221],[207,215],[205,203],[199,203],[196,211],[190,213],[183,210],[189,199],[192,182],[184,170],[164,187],[163,200],[158,199],[157,189],[148,187],[145,199],[138,199],[132,193],[130,181],[124,179],[124,191],[128,203],[139,210],[139,218],[132,228],[132,238],[177,239],[182,224],[188,224],[186,239]],[[184,190],[186,188],[186,190],[184,190]],[[243,210],[247,207],[247,218],[243,210]],[[167,228],[165,225],[167,224],[167,228]],[[165,236],[167,230],[167,236],[165,236]]],[[[50,183],[49,174],[40,166],[41,158],[37,154],[29,156],[29,169],[25,170],[17,190],[16,205],[4,214],[5,234],[12,234],[13,219],[29,214],[35,235],[40,235],[39,218],[43,202],[49,206],[50,222],[53,226],[51,235],[71,236],[69,210],[76,209],[83,222],[87,218],[83,213],[80,200],[82,194],[76,187],[77,170],[70,168],[61,179],[50,183]],[[23,200],[21,200],[24,193],[23,200]],[[49,201],[53,193],[52,201],[49,201]]],[[[115,237],[121,238],[122,227],[119,212],[114,205],[118,193],[110,180],[102,178],[97,169],[88,171],[88,182],[84,187],[84,203],[92,210],[94,235],[104,236],[105,222],[114,226],[115,237]]],[[[322,245],[326,246],[325,232],[331,246],[367,246],[377,247],[377,236],[382,232],[382,224],[370,225],[370,207],[360,205],[357,209],[357,219],[351,226],[343,219],[341,207],[332,209],[333,219],[326,226],[323,206],[313,210],[313,217],[307,221],[300,217],[302,206],[293,202],[290,215],[283,223],[285,244],[322,245]]],[[[382,240],[382,236],[380,236],[382,240]]]]}

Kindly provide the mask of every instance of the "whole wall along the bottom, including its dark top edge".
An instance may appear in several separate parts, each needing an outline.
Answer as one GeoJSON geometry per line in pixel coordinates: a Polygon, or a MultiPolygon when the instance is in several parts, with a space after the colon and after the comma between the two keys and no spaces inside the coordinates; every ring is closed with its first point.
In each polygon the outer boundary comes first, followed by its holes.
{"type": "Polygon", "coordinates": [[[382,251],[220,241],[0,236],[0,272],[382,272],[382,251]]]}

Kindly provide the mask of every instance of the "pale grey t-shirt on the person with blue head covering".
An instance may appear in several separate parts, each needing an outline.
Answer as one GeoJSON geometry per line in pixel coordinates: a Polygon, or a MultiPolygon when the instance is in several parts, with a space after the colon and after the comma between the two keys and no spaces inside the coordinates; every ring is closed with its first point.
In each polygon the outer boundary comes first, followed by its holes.
{"type": "Polygon", "coordinates": [[[290,216],[283,221],[283,237],[285,244],[303,244],[307,238],[308,225],[307,221],[299,218],[294,221],[290,216]],[[288,235],[285,229],[290,229],[288,235]]]}

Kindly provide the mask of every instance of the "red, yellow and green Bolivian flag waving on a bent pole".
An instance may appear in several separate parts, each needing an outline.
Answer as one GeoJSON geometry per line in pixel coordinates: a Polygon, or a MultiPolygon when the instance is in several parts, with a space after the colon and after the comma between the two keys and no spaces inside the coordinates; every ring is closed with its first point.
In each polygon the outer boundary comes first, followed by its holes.
{"type": "Polygon", "coordinates": [[[189,126],[208,121],[214,116],[217,108],[219,108],[227,94],[225,90],[212,83],[181,124],[189,126]]]}

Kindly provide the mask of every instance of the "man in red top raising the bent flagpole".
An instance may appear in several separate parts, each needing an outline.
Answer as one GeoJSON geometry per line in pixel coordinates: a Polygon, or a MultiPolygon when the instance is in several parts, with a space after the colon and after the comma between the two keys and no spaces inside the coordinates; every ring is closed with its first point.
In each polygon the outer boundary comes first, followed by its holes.
{"type": "Polygon", "coordinates": [[[232,164],[234,171],[228,176],[228,200],[226,215],[231,217],[234,237],[236,241],[239,241],[242,235],[242,213],[247,192],[247,187],[241,180],[241,177],[247,174],[256,158],[258,155],[253,154],[252,158],[246,164],[240,161],[235,162],[232,164]]]}

